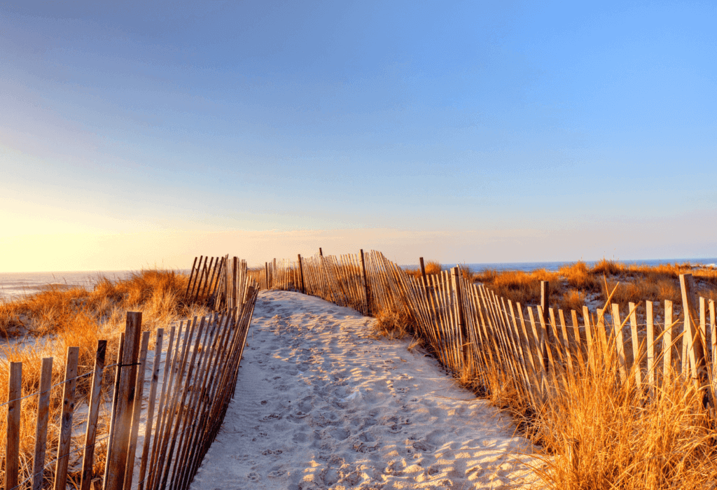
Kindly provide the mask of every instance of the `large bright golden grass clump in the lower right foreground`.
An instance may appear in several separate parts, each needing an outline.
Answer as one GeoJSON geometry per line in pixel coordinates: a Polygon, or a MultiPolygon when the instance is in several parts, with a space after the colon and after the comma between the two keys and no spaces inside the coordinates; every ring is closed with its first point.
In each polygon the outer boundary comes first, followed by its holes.
{"type": "Polygon", "coordinates": [[[549,488],[715,488],[717,432],[703,393],[673,376],[648,399],[611,373],[570,380],[529,426],[545,449],[537,471],[549,488]]]}

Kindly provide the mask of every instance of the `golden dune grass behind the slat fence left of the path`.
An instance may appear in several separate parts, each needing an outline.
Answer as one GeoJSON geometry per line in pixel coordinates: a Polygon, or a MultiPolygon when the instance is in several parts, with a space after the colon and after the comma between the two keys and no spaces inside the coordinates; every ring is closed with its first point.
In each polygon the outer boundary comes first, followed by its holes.
{"type": "MultiPolygon", "coordinates": [[[[95,351],[100,339],[108,340],[105,364],[115,362],[120,332],[124,330],[127,311],[142,312],[143,330],[168,327],[181,317],[204,314],[200,308],[185,305],[184,297],[188,277],[172,271],[143,270],[127,279],[112,282],[99,277],[92,289],[83,287],[48,287],[41,292],[0,303],[0,335],[9,340],[17,337],[36,338],[37,342],[9,342],[0,347],[0,400],[7,400],[10,362],[22,362],[22,395],[39,390],[43,357],[53,357],[52,384],[65,379],[67,347],[80,347],[78,375],[92,370],[95,351]]],[[[105,371],[103,395],[108,399],[111,373],[105,371]]],[[[90,376],[77,380],[76,406],[87,401],[90,376]]],[[[62,410],[62,385],[52,389],[47,436],[47,460],[57,453],[60,433],[59,419],[62,410]]],[[[37,417],[37,395],[22,400],[20,453],[21,481],[32,473],[34,430],[37,417]]],[[[98,440],[107,432],[108,414],[100,413],[98,440]]],[[[0,418],[0,441],[6,438],[6,418],[0,418]]],[[[81,421],[80,421],[81,422],[81,421]]],[[[83,441],[83,439],[82,439],[83,441]]],[[[81,443],[81,441],[77,441],[81,443]]],[[[74,443],[73,443],[74,444],[74,443]]],[[[0,453],[4,453],[4,444],[0,453]]],[[[81,453],[80,453],[81,454],[81,453]]],[[[103,468],[105,446],[100,443],[95,456],[95,469],[103,468]]],[[[75,455],[77,456],[77,454],[75,455]]],[[[1,456],[0,458],[4,458],[1,456]]],[[[71,461],[72,462],[72,461],[71,461]]],[[[72,466],[72,464],[71,464],[72,466]]],[[[54,467],[48,468],[46,478],[51,479],[54,467]]],[[[0,472],[4,479],[4,469],[0,472]]],[[[70,479],[77,479],[70,472],[70,479]]],[[[77,482],[79,486],[79,481],[77,482]]]]}

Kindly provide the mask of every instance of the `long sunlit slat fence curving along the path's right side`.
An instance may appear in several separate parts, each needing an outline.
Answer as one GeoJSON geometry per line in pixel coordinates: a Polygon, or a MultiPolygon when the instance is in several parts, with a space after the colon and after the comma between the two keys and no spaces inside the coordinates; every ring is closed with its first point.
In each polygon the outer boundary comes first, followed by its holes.
{"type": "Polygon", "coordinates": [[[497,374],[536,410],[571,377],[605,362],[617,383],[645,393],[675,373],[692,378],[705,403],[715,404],[715,304],[695,297],[691,274],[680,276],[681,304],[630,303],[624,317],[612,294],[595,312],[544,311],[471,284],[460,267],[417,279],[376,251],[274,260],[255,274],[262,288],[305,292],[364,314],[404,314],[443,365],[486,386],[497,374]]]}

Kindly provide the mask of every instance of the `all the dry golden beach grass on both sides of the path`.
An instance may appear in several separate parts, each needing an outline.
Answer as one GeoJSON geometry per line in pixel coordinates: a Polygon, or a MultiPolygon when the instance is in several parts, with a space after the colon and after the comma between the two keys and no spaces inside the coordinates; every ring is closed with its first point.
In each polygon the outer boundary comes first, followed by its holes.
{"type": "MultiPolygon", "coordinates": [[[[429,262],[426,269],[428,274],[435,274],[440,272],[440,264],[429,262]]],[[[553,301],[569,310],[579,309],[588,301],[602,307],[607,299],[606,288],[612,291],[618,283],[612,300],[620,304],[645,299],[670,299],[678,303],[678,274],[684,272],[694,275],[701,296],[715,298],[717,270],[693,268],[690,264],[645,267],[604,260],[594,266],[576,262],[557,272],[540,269],[478,274],[465,271],[464,274],[470,274],[474,281],[482,282],[499,296],[521,304],[538,303],[540,281],[548,280],[553,301]]],[[[48,289],[16,302],[0,304],[0,335],[47,339],[42,345],[16,343],[5,347],[4,360],[0,363],[0,396],[6,400],[9,362],[23,362],[23,394],[26,394],[37,391],[42,357],[54,357],[53,383],[62,380],[65,352],[70,345],[80,346],[80,373],[92,368],[100,338],[110,340],[108,360],[114,360],[116,338],[127,310],[143,311],[145,330],[198,314],[179,302],[186,280],[182,274],[144,271],[126,282],[100,279],[92,291],[48,289]]],[[[405,314],[381,311],[374,315],[375,335],[402,338],[413,331],[405,314]]],[[[615,383],[614,369],[614,359],[598,356],[594,370],[576,370],[564,385],[556,387],[556,395],[549,403],[537,411],[516,388],[516,380],[497,369],[489,368],[483,380],[470,375],[459,375],[458,380],[511,413],[521,433],[543,448],[544,464],[535,471],[549,488],[716,488],[715,415],[703,408],[703,392],[674,373],[654,396],[647,397],[634,383],[615,383]]],[[[634,378],[635,370],[629,374],[630,379],[634,378]]],[[[105,375],[105,382],[107,379],[105,375]]],[[[86,396],[86,378],[77,388],[86,396]]],[[[36,406],[36,397],[27,398],[22,405],[22,427],[27,429],[21,436],[25,474],[32,465],[36,406]]],[[[52,410],[56,420],[59,405],[53,405],[52,410]]],[[[0,437],[3,439],[4,425],[2,418],[0,437]]],[[[57,446],[57,432],[57,426],[49,431],[48,453],[57,446]]]]}

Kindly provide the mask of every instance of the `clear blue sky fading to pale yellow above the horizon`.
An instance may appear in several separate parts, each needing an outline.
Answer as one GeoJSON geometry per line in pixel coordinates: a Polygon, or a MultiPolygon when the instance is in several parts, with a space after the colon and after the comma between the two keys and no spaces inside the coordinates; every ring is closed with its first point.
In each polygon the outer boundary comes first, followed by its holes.
{"type": "Polygon", "coordinates": [[[711,1],[0,1],[0,272],[717,256],[711,1]]]}

